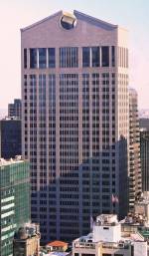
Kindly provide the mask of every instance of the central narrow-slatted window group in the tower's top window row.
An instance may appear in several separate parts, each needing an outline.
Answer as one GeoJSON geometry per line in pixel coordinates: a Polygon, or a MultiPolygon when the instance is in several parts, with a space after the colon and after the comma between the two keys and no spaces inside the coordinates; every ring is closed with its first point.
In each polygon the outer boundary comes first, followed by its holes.
{"type": "Polygon", "coordinates": [[[77,68],[77,47],[60,48],[60,67],[61,68],[77,68]]]}

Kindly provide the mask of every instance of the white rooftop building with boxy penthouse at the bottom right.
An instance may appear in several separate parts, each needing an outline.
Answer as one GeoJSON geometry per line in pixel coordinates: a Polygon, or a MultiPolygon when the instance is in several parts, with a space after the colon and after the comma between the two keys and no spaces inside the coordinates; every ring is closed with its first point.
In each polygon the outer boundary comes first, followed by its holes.
{"type": "Polygon", "coordinates": [[[73,256],[147,256],[147,242],[140,233],[121,232],[116,215],[102,214],[93,232],[73,242],[73,256]]]}

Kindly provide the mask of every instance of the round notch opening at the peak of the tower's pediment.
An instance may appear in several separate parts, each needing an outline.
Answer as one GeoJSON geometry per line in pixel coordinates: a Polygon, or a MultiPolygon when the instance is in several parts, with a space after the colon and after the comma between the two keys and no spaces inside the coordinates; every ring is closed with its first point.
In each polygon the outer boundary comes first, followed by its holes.
{"type": "Polygon", "coordinates": [[[63,13],[61,18],[61,26],[66,30],[74,29],[76,26],[76,18],[74,14],[71,13],[63,13]]]}

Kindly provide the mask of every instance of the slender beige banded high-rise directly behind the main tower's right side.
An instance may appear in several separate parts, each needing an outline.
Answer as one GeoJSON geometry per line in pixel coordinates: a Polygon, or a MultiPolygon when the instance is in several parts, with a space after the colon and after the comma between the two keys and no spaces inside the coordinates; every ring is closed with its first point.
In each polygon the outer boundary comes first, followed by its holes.
{"type": "Polygon", "coordinates": [[[133,211],[135,198],[142,191],[140,159],[140,132],[138,118],[138,96],[129,89],[129,209],[133,211]]]}

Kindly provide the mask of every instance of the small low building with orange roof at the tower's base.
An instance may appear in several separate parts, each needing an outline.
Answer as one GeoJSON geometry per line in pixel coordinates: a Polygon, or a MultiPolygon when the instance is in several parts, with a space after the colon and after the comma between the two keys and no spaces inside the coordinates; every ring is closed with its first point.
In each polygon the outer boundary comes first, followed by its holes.
{"type": "Polygon", "coordinates": [[[52,252],[52,251],[65,252],[68,250],[68,243],[56,240],[51,243],[48,243],[46,245],[46,249],[49,250],[49,252],[52,252]]]}

